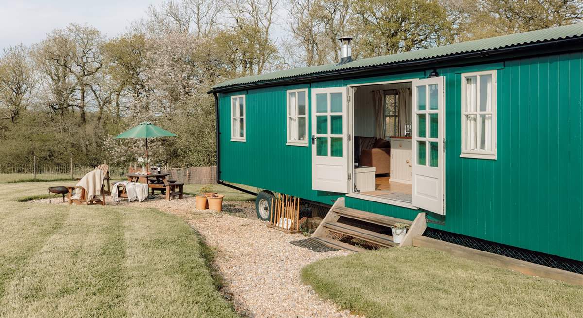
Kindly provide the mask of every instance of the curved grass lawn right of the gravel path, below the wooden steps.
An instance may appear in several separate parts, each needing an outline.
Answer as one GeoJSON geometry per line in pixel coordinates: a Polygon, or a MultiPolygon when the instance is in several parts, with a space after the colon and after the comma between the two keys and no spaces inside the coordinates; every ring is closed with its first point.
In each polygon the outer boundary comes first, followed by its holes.
{"type": "Polygon", "coordinates": [[[302,279],[343,309],[374,317],[583,317],[583,287],[425,248],[312,263],[302,279]]]}

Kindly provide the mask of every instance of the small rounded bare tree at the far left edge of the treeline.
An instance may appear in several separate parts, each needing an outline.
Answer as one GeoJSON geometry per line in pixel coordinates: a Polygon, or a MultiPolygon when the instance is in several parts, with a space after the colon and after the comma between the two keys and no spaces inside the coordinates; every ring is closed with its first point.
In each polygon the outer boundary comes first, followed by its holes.
{"type": "Polygon", "coordinates": [[[0,58],[0,119],[15,123],[29,105],[35,84],[29,49],[22,44],[5,48],[0,58]]]}

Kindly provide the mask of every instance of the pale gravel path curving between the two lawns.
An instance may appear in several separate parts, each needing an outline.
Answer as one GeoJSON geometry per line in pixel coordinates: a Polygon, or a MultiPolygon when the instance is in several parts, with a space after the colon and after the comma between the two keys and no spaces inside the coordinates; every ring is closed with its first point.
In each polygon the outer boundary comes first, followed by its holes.
{"type": "MultiPolygon", "coordinates": [[[[109,197],[110,198],[110,197],[109,197]]],[[[111,199],[107,204],[113,204],[111,199]]],[[[31,202],[48,203],[48,199],[31,202]]],[[[53,200],[53,204],[62,204],[53,200]]],[[[300,270],[319,259],[350,252],[316,253],[291,245],[303,236],[265,226],[257,220],[252,202],[224,202],[223,212],[195,210],[195,198],[119,202],[149,206],[179,215],[215,249],[215,270],[224,278],[222,289],[238,313],[246,317],[359,317],[340,311],[301,283],[300,270]]]]}

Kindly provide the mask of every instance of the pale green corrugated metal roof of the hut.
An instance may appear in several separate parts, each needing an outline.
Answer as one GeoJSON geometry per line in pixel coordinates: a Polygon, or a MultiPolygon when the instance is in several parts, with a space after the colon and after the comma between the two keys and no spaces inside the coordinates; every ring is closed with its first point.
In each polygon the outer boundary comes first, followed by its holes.
{"type": "Polygon", "coordinates": [[[496,50],[506,47],[563,40],[567,38],[575,38],[581,36],[583,36],[583,23],[577,23],[568,26],[552,27],[549,29],[510,34],[508,36],[484,38],[482,40],[474,40],[462,43],[443,45],[441,47],[427,48],[424,50],[417,50],[385,56],[377,56],[374,58],[359,59],[344,64],[335,63],[328,65],[307,66],[305,68],[280,70],[278,72],[272,72],[262,75],[239,77],[217,84],[213,86],[213,90],[240,84],[251,84],[259,82],[265,83],[270,82],[272,80],[285,79],[296,76],[315,75],[319,73],[334,72],[338,70],[358,69],[367,68],[370,66],[419,61],[424,59],[439,58],[443,56],[496,50]]]}

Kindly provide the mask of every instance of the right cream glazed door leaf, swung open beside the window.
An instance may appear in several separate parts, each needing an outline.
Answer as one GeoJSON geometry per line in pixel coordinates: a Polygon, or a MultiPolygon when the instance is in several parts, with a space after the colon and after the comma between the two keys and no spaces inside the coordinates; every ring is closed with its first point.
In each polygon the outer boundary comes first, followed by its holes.
{"type": "Polygon", "coordinates": [[[412,204],[445,214],[443,77],[413,80],[412,204]]]}

